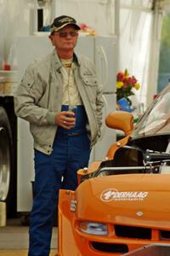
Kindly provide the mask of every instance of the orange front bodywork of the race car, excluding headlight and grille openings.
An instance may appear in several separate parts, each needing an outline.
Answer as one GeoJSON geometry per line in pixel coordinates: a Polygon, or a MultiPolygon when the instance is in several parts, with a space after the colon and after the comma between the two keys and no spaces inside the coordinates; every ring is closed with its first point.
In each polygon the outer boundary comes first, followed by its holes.
{"type": "Polygon", "coordinates": [[[60,190],[59,256],[70,252],[71,255],[122,255],[114,253],[114,249],[111,253],[96,250],[92,246],[94,242],[124,244],[127,252],[154,241],[169,243],[168,239],[160,239],[162,231],[170,231],[170,205],[167,203],[170,179],[167,177],[166,174],[96,177],[82,182],[76,192],[60,190]],[[108,236],[89,235],[80,230],[80,221],[95,222],[96,219],[107,224],[108,236]],[[150,239],[128,237],[124,227],[146,229],[150,239]],[[125,235],[121,236],[123,232],[125,235]]]}

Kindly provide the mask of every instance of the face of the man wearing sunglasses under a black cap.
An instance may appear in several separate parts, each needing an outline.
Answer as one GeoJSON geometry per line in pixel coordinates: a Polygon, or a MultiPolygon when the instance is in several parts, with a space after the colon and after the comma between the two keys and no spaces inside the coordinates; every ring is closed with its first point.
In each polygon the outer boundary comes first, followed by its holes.
{"type": "Polygon", "coordinates": [[[75,26],[65,26],[60,29],[59,32],[54,32],[49,36],[52,44],[58,50],[70,50],[74,49],[77,44],[78,32],[75,26]]]}

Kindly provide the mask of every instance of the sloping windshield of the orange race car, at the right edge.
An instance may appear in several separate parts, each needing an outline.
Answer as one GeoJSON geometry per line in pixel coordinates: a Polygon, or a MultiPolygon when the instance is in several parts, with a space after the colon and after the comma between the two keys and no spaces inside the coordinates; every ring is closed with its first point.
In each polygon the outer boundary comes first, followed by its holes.
{"type": "Polygon", "coordinates": [[[132,137],[170,133],[170,84],[161,91],[136,125],[132,137]]]}

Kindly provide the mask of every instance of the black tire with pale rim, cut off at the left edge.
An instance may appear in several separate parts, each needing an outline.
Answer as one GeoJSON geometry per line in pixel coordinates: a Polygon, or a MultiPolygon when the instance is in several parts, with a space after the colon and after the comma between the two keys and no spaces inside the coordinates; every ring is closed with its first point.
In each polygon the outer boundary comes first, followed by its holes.
{"type": "Polygon", "coordinates": [[[0,201],[7,204],[7,217],[14,213],[14,151],[8,115],[0,107],[0,201]]]}

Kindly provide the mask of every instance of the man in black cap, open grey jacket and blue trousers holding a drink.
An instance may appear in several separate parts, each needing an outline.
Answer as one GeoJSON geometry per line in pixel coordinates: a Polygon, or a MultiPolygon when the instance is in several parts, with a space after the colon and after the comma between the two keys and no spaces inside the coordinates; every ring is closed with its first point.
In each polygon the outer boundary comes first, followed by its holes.
{"type": "Polygon", "coordinates": [[[34,138],[29,256],[49,255],[59,189],[77,188],[77,170],[88,166],[100,136],[102,91],[92,62],[74,53],[79,29],[69,16],[54,19],[54,51],[26,69],[14,97],[15,113],[30,123],[34,138]]]}

